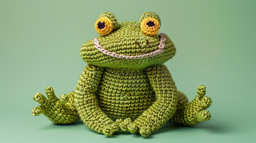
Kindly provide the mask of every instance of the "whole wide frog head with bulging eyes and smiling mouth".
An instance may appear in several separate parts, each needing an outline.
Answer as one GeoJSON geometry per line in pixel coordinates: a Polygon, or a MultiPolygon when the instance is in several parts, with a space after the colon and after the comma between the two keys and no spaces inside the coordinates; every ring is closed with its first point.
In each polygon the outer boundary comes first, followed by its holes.
{"type": "Polygon", "coordinates": [[[157,34],[160,24],[153,12],[145,12],[139,22],[121,23],[112,13],[102,13],[95,23],[100,36],[85,42],[80,54],[85,62],[100,67],[143,69],[161,65],[176,49],[167,35],[157,34]]]}

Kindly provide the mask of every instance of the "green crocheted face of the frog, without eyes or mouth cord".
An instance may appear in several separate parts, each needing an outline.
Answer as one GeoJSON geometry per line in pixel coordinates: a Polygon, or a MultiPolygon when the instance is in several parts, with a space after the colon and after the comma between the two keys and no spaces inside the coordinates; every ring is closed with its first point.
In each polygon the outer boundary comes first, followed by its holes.
{"type": "MultiPolygon", "coordinates": [[[[139,22],[126,21],[119,23],[119,28],[105,36],[97,38],[106,50],[123,55],[141,55],[157,50],[160,44],[159,35],[147,36],[141,32],[139,22]]],[[[89,64],[109,68],[146,68],[161,65],[171,59],[176,49],[171,39],[166,35],[166,46],[160,55],[144,59],[117,59],[104,55],[94,47],[93,40],[83,44],[81,56],[89,64]]]]}

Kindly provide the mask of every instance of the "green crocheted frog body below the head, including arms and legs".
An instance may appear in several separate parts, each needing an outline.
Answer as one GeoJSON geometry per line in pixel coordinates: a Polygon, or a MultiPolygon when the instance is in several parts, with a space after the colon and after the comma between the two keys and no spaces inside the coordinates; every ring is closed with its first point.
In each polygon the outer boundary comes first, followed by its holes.
{"type": "Polygon", "coordinates": [[[34,115],[45,114],[58,124],[75,123],[79,118],[91,130],[107,136],[123,131],[148,136],[168,120],[196,125],[209,120],[211,99],[204,97],[199,86],[197,97],[188,102],[177,91],[171,74],[164,65],[146,69],[85,67],[75,92],[58,99],[52,88],[46,88],[46,99],[36,94],[41,106],[34,115]]]}

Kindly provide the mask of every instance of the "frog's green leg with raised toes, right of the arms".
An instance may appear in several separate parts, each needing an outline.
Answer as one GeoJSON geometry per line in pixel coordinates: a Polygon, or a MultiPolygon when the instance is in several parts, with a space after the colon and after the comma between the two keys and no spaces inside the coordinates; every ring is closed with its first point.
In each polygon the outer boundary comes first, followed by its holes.
{"type": "Polygon", "coordinates": [[[211,118],[209,111],[206,111],[211,106],[210,97],[205,96],[205,86],[198,86],[198,94],[190,103],[184,100],[184,94],[178,92],[177,111],[173,115],[171,121],[183,125],[196,125],[202,121],[207,121],[211,118]],[[180,101],[179,101],[180,100],[180,101]]]}

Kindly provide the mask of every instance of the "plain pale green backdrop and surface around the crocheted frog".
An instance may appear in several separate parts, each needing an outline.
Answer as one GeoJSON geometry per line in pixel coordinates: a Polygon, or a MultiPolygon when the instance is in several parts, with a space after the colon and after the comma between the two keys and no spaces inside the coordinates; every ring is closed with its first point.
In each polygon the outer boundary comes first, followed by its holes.
{"type": "Polygon", "coordinates": [[[255,142],[255,7],[254,0],[1,0],[0,142],[255,142]],[[177,49],[165,65],[189,100],[198,85],[207,87],[210,121],[168,122],[146,138],[107,137],[81,121],[54,125],[32,116],[36,92],[52,86],[59,96],[75,89],[86,65],[80,48],[98,36],[94,23],[105,11],[119,22],[139,21],[145,11],[160,16],[159,33],[177,49]]]}

